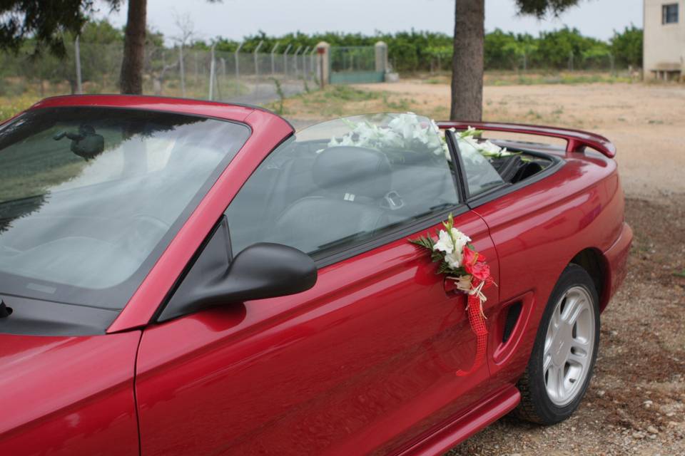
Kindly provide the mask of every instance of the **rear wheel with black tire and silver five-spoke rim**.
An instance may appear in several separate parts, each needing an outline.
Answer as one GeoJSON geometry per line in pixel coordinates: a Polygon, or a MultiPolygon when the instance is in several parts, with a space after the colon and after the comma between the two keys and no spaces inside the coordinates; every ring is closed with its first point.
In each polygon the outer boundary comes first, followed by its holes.
{"type": "Polygon", "coordinates": [[[569,418],[590,383],[597,348],[597,289],[585,269],[569,264],[549,296],[528,366],[517,383],[521,402],[514,415],[542,425],[569,418]]]}

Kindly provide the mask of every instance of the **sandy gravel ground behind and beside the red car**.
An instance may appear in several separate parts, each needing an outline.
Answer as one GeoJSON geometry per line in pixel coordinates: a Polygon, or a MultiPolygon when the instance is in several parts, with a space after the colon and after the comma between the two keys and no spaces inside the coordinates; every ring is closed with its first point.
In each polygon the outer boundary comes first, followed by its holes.
{"type": "MultiPolygon", "coordinates": [[[[357,87],[384,95],[336,107],[340,114],[395,103],[447,116],[445,84],[357,87]]],[[[299,118],[311,112],[302,99],[287,108],[299,118]]],[[[635,239],[626,281],[602,315],[597,368],[577,413],[551,427],[505,417],[448,454],[685,455],[685,86],[487,86],[484,118],[582,128],[614,141],[635,239]]]]}

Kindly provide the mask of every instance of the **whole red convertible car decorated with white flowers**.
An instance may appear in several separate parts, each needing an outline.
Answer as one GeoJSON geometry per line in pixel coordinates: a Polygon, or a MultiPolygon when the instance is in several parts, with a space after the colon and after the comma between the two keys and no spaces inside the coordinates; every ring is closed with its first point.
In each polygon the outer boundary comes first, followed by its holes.
{"type": "Polygon", "coordinates": [[[440,455],[507,413],[564,420],[626,273],[614,155],[411,113],[296,133],[43,100],[0,125],[0,452],[440,455]],[[480,363],[467,296],[408,242],[450,214],[497,285],[480,363]]]}

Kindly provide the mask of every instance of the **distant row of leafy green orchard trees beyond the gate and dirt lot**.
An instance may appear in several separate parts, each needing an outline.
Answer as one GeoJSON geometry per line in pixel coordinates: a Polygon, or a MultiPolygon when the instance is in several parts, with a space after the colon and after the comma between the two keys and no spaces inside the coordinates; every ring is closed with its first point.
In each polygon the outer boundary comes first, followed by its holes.
{"type": "MultiPolygon", "coordinates": [[[[452,37],[445,33],[408,31],[398,33],[288,33],[282,36],[269,36],[263,31],[243,38],[241,52],[252,52],[263,41],[261,52],[270,52],[279,43],[278,53],[283,53],[288,44],[290,53],[299,46],[310,50],[320,41],[331,46],[373,46],[377,41],[388,45],[390,62],[395,70],[428,71],[450,67],[452,59],[452,37]],[[431,62],[433,65],[431,65],[431,62]]],[[[233,52],[240,41],[216,38],[217,51],[233,52]]],[[[196,41],[192,48],[209,49],[210,43],[196,41]]],[[[617,66],[639,66],[642,55],[642,31],[631,26],[622,33],[614,33],[607,43],[596,38],[582,36],[575,28],[562,28],[557,31],[543,32],[535,37],[529,33],[504,32],[497,28],[486,33],[485,68],[487,70],[514,70],[524,68],[563,69],[568,68],[570,54],[574,54],[575,68],[609,68],[609,53],[612,53],[617,66]]]]}

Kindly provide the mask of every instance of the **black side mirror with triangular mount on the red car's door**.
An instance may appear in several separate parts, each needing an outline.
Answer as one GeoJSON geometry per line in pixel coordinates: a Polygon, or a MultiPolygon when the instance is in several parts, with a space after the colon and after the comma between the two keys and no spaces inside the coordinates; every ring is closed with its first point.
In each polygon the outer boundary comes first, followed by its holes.
{"type": "Polygon", "coordinates": [[[223,219],[158,321],[210,306],[296,294],[316,283],[313,259],[298,249],[253,244],[228,265],[227,247],[228,228],[223,219]]]}

